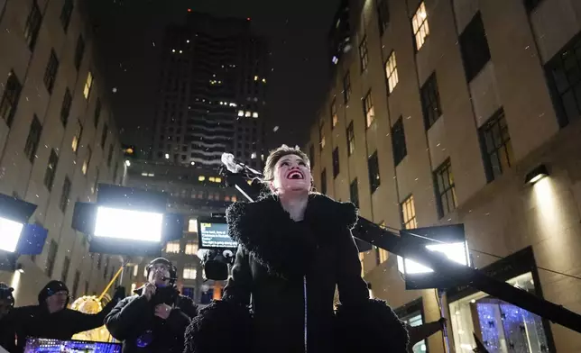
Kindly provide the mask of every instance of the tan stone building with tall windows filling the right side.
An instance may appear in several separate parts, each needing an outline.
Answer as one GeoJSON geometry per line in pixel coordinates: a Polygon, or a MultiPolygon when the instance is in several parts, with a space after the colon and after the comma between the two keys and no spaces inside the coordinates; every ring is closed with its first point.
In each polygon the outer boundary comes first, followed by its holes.
{"type": "MultiPolygon", "coordinates": [[[[581,3],[348,8],[352,49],[309,132],[318,190],[392,228],[464,223],[475,267],[581,312],[581,3]]],[[[438,320],[435,290],[406,291],[397,257],[361,259],[404,321],[438,320]]],[[[456,352],[475,348],[473,332],[491,352],[581,351],[573,330],[474,288],[448,288],[441,304],[456,352]]],[[[446,351],[443,335],[423,351],[446,351]]]]}

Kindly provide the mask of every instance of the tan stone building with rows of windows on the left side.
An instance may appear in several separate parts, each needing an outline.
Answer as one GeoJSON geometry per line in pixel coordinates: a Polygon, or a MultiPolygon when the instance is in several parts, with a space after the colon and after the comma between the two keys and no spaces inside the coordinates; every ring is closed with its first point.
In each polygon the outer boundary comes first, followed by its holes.
{"type": "MultiPolygon", "coordinates": [[[[124,177],[121,145],[83,2],[0,1],[0,193],[38,208],[42,254],[0,270],[16,305],[37,303],[51,278],[76,298],[100,294],[121,262],[88,253],[71,228],[74,204],[124,177]]],[[[125,278],[128,279],[127,276],[125,278]]]]}

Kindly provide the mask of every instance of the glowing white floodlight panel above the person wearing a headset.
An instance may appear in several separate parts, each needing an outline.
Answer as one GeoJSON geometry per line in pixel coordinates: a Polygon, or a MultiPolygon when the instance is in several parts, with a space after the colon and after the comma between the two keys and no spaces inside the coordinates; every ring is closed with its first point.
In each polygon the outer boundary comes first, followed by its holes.
{"type": "Polygon", "coordinates": [[[95,236],[123,240],[161,241],[163,214],[99,206],[95,236]]]}

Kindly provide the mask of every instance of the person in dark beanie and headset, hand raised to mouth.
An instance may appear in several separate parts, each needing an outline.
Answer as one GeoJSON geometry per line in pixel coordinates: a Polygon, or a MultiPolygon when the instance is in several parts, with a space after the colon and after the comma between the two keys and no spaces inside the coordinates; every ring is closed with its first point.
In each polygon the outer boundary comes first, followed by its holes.
{"type": "Polygon", "coordinates": [[[181,353],[198,307],[180,295],[177,270],[168,259],[155,258],[146,268],[148,282],[115,306],[106,316],[106,328],[123,342],[123,353],[181,353]]]}

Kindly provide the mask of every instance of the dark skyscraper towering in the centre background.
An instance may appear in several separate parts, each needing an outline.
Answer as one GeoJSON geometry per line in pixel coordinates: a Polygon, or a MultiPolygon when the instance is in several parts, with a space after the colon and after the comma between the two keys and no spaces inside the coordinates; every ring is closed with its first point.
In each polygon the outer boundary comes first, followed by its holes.
{"type": "Polygon", "coordinates": [[[167,29],[152,159],[215,168],[230,152],[262,167],[267,47],[250,23],[189,12],[167,29]]]}

